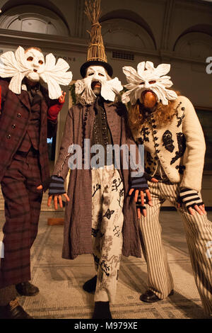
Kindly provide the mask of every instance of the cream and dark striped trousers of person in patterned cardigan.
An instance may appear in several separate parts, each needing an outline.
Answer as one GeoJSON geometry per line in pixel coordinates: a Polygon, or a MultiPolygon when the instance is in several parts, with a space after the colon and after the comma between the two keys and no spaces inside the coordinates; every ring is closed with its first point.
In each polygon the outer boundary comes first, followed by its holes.
{"type": "MultiPolygon", "coordinates": [[[[139,233],[148,268],[149,289],[158,298],[163,299],[169,295],[174,286],[161,238],[159,213],[160,206],[165,200],[170,201],[177,208],[179,184],[148,182],[148,186],[153,207],[146,206],[147,216],[141,217],[139,233]]],[[[212,241],[212,223],[206,215],[199,215],[197,212],[195,215],[190,215],[183,206],[177,210],[184,222],[192,269],[201,302],[206,314],[212,315],[212,256],[208,256],[207,247],[207,244],[212,241]]]]}

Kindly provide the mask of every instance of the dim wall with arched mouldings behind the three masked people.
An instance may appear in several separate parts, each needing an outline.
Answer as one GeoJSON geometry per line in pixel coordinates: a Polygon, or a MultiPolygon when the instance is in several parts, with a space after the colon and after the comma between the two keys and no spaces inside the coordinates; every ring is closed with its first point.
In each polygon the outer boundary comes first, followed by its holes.
{"type": "MultiPolygon", "coordinates": [[[[80,78],[79,69],[86,61],[90,24],[83,13],[84,0],[25,1],[0,0],[0,50],[16,50],[18,45],[37,45],[45,52],[66,57],[73,79],[80,78]],[[22,5],[17,9],[18,5],[22,5]],[[37,4],[35,10],[35,4],[37,4]],[[39,6],[40,7],[39,7],[39,6]],[[6,9],[6,11],[4,11],[6,9]],[[47,17],[55,25],[49,32],[36,32],[36,20],[24,21],[28,13],[36,12],[36,19],[47,17]],[[51,13],[52,12],[52,13],[51,13]],[[26,30],[20,31],[20,21],[26,30]],[[11,30],[11,28],[13,30],[11,30]],[[56,28],[55,28],[56,27],[56,28]]],[[[30,14],[30,17],[32,15],[30,14]]],[[[174,88],[192,100],[194,106],[212,112],[211,74],[206,74],[206,58],[212,57],[212,4],[201,0],[102,0],[102,35],[108,62],[114,76],[122,83],[125,65],[136,67],[143,60],[155,64],[172,64],[170,75],[174,88]],[[112,57],[112,51],[134,55],[134,60],[112,57]]],[[[42,23],[45,24],[45,23],[42,23]]],[[[0,51],[1,52],[1,51],[0,51]]],[[[67,89],[65,89],[67,91],[67,89]]],[[[69,101],[61,111],[57,152],[69,101]]],[[[211,129],[212,130],[212,129],[211,129]]],[[[212,205],[212,177],[204,175],[203,195],[212,205]]]]}

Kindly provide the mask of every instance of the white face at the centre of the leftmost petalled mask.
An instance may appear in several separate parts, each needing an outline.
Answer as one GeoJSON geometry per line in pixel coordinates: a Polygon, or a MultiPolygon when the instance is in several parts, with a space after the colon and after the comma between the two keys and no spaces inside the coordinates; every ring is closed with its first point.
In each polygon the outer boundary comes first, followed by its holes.
{"type": "Polygon", "coordinates": [[[40,74],[45,69],[45,58],[43,54],[35,49],[30,49],[25,52],[26,66],[29,69],[26,77],[33,82],[40,81],[40,74]]]}

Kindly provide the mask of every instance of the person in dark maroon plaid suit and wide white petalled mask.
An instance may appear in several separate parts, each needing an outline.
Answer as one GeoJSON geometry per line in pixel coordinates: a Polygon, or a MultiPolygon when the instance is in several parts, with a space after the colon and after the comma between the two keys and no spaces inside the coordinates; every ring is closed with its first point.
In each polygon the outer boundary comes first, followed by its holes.
{"type": "Polygon", "coordinates": [[[31,318],[16,293],[36,295],[30,281],[30,248],[37,235],[42,193],[49,184],[47,137],[56,135],[57,115],[68,85],[69,64],[37,47],[0,57],[0,181],[5,201],[4,258],[0,270],[0,317],[31,318]],[[44,81],[48,90],[40,84],[44,81]]]}

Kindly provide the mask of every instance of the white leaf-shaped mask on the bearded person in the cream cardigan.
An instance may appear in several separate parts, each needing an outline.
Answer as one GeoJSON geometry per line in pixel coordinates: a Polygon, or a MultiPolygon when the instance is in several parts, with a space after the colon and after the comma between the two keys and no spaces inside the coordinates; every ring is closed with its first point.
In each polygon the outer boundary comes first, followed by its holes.
{"type": "Polygon", "coordinates": [[[169,90],[172,86],[170,77],[166,76],[170,72],[170,64],[159,64],[154,67],[153,62],[140,62],[136,69],[133,67],[123,67],[123,72],[126,75],[126,91],[122,95],[123,103],[134,105],[141,97],[143,91],[153,91],[157,101],[167,105],[168,101],[174,101],[177,98],[175,91],[169,90]]]}

